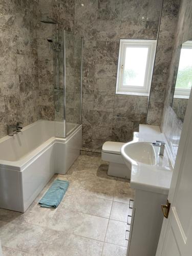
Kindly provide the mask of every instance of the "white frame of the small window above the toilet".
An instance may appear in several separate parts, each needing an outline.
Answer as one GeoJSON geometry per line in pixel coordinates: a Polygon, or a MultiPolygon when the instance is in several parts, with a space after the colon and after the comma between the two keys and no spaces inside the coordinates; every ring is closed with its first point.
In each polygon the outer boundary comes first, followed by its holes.
{"type": "Polygon", "coordinates": [[[150,95],[155,54],[156,54],[156,46],[157,46],[157,40],[120,39],[116,94],[143,95],[143,96],[150,95]],[[125,51],[127,47],[138,47],[138,48],[147,47],[148,48],[143,87],[138,88],[136,86],[123,86],[125,51]]]}

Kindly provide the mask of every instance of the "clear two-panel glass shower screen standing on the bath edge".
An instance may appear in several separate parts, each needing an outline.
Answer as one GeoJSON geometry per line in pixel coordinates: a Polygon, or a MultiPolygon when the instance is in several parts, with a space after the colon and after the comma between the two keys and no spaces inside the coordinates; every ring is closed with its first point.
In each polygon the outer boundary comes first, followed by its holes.
{"type": "Polygon", "coordinates": [[[81,37],[57,30],[53,50],[55,136],[65,138],[81,122],[81,37]]]}

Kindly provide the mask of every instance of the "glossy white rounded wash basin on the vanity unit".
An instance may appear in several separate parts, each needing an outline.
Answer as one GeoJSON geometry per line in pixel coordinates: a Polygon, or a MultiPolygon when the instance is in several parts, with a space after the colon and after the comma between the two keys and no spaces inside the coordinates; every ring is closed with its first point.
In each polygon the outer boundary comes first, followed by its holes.
{"type": "Polygon", "coordinates": [[[134,140],[124,144],[120,150],[127,168],[131,170],[131,187],[167,195],[173,173],[168,148],[165,146],[164,155],[160,156],[159,147],[154,147],[151,141],[142,141],[145,137],[141,136],[137,138],[134,134],[134,140]]]}

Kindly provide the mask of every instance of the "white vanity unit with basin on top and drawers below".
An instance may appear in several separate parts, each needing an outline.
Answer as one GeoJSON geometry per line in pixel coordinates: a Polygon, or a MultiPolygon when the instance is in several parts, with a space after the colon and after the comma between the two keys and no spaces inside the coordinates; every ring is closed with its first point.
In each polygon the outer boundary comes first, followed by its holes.
{"type": "Polygon", "coordinates": [[[131,169],[131,187],[136,189],[127,216],[127,256],[155,256],[163,222],[161,204],[166,204],[173,173],[168,144],[158,126],[140,125],[133,141],[121,147],[121,155],[131,169]],[[165,142],[164,152],[163,143],[153,145],[156,140],[165,142]]]}

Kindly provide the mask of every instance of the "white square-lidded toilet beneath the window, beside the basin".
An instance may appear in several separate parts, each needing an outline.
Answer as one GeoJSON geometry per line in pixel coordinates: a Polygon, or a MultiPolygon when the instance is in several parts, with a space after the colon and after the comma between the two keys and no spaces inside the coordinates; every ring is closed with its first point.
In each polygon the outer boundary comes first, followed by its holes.
{"type": "Polygon", "coordinates": [[[110,162],[108,175],[130,179],[131,170],[123,162],[120,153],[120,148],[124,144],[122,142],[106,141],[102,146],[101,158],[110,162]]]}

